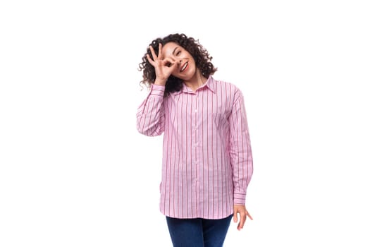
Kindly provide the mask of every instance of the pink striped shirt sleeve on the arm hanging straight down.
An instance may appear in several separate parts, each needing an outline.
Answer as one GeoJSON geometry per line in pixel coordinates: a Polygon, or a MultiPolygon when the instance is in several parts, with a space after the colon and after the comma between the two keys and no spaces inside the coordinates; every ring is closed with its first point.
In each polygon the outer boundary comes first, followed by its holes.
{"type": "Polygon", "coordinates": [[[247,186],[253,173],[247,114],[242,92],[235,91],[230,122],[230,159],[233,169],[234,204],[244,205],[247,186]]]}

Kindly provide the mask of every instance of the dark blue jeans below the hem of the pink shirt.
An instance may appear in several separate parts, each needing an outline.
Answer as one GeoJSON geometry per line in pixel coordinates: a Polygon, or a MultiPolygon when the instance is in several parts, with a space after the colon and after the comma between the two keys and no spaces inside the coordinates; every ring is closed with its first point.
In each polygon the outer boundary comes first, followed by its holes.
{"type": "Polygon", "coordinates": [[[173,247],[222,247],[233,215],[224,219],[166,217],[173,247]]]}

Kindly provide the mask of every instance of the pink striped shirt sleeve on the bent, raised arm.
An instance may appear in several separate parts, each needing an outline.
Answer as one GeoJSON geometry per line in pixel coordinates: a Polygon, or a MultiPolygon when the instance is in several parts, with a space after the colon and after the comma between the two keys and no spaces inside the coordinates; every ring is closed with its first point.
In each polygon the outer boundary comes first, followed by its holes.
{"type": "Polygon", "coordinates": [[[137,109],[137,131],[156,136],[164,132],[164,86],[152,85],[149,95],[137,109]]]}

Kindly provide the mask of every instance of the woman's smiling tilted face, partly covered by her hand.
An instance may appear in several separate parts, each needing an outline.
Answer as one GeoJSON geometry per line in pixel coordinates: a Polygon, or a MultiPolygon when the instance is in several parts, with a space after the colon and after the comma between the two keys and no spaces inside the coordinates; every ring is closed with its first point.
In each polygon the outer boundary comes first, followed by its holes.
{"type": "Polygon", "coordinates": [[[195,60],[192,55],[187,52],[186,49],[180,47],[179,44],[168,42],[162,48],[162,55],[164,59],[170,59],[175,66],[177,66],[172,76],[184,81],[191,80],[195,76],[195,72],[197,71],[195,60]]]}

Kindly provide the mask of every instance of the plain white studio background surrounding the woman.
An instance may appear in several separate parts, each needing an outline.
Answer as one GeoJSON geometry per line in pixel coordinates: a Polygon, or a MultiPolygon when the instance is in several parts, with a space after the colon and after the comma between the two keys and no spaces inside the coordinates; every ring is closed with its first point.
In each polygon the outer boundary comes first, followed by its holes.
{"type": "Polygon", "coordinates": [[[369,246],[366,1],[1,1],[0,246],[171,246],[137,71],[184,32],[245,95],[254,154],[225,246],[369,246]]]}

